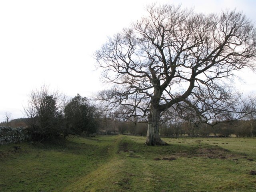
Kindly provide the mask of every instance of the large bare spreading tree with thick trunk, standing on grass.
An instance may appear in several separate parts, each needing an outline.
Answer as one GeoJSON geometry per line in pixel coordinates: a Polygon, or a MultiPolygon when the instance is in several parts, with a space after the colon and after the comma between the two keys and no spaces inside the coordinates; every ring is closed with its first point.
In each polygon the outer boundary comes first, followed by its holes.
{"type": "Polygon", "coordinates": [[[145,144],[164,145],[158,122],[166,109],[186,104],[205,118],[232,109],[224,81],[234,71],[254,67],[256,30],[235,10],[198,14],[169,4],[147,10],[148,16],[96,52],[104,80],[112,85],[99,99],[146,116],[145,144]]]}

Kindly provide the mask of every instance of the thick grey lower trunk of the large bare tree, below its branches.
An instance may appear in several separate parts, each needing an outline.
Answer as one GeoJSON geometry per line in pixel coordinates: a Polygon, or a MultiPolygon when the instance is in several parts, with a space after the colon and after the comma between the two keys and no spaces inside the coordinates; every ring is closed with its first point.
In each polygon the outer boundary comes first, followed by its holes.
{"type": "Polygon", "coordinates": [[[160,120],[160,112],[153,109],[148,116],[148,132],[145,145],[168,145],[161,140],[159,136],[158,121],[160,120]]]}

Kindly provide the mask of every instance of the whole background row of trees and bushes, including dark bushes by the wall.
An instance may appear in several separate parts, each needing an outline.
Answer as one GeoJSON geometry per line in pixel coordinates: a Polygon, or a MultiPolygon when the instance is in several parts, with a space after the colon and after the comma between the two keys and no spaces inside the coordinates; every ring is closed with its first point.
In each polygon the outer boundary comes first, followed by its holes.
{"type": "MultiPolygon", "coordinates": [[[[254,100],[250,100],[254,104],[254,100]]],[[[248,105],[247,105],[248,106],[248,105]]],[[[254,105],[251,105],[254,106],[254,105]]],[[[189,108],[172,108],[162,114],[159,134],[171,136],[223,136],[253,137],[256,135],[256,113],[248,113],[237,119],[228,114],[218,115],[215,121],[202,121],[189,108]]],[[[51,92],[48,86],[30,93],[24,108],[26,118],[12,120],[6,112],[0,126],[26,127],[34,141],[56,140],[68,135],[90,136],[91,134],[131,134],[146,136],[148,122],[136,117],[126,118],[129,108],[109,110],[104,104],[77,94],[68,100],[58,91],[51,92]]]]}

